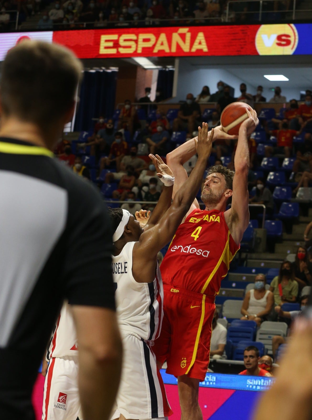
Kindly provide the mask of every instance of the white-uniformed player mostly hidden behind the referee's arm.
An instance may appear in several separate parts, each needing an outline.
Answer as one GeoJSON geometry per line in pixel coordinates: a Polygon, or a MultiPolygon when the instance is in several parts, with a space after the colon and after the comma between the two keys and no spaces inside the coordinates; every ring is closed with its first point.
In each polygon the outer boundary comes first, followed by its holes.
{"type": "MultiPolygon", "coordinates": [[[[78,346],[70,305],[64,302],[48,346],[42,420],[82,420],[78,346]]],[[[44,366],[44,364],[43,364],[44,366]]],[[[45,368],[43,367],[43,373],[45,368]]]]}

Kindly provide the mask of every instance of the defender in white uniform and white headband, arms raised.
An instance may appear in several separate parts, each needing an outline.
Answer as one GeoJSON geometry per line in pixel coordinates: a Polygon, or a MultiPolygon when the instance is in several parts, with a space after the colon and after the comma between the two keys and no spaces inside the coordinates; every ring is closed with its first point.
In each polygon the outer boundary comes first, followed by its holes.
{"type": "Polygon", "coordinates": [[[173,174],[158,155],[150,155],[165,186],[144,231],[126,210],[114,208],[109,212],[114,231],[117,317],[124,349],[117,410],[112,419],[165,419],[172,414],[152,350],[163,317],[157,253],[172,239],[203,181],[213,138],[213,131],[209,139],[207,133],[208,125],[203,123],[198,129],[198,161],[172,204],[173,174]]]}

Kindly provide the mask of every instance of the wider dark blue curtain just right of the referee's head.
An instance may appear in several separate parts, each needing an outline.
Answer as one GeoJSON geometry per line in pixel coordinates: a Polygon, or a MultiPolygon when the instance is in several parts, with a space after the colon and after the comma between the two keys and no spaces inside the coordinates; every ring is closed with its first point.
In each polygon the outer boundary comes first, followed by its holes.
{"type": "Polygon", "coordinates": [[[80,90],[80,102],[76,111],[75,131],[89,131],[94,127],[92,118],[104,115],[110,118],[114,112],[117,71],[85,71],[80,90]]]}

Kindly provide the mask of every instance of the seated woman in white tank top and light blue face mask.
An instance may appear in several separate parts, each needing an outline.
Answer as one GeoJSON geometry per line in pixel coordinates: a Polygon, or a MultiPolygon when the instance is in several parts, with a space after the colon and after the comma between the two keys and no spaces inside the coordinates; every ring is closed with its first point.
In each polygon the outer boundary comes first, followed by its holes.
{"type": "Polygon", "coordinates": [[[273,309],[274,295],[265,289],[266,277],[264,274],[255,276],[254,289],[248,290],[242,303],[241,320],[255,321],[260,327],[263,321],[268,320],[268,315],[273,309]]]}

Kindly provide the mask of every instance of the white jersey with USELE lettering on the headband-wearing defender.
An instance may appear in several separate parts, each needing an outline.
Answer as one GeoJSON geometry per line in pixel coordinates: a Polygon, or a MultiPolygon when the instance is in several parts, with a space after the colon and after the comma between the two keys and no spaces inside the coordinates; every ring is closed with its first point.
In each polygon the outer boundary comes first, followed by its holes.
{"type": "Polygon", "coordinates": [[[164,289],[159,266],[151,283],[138,283],[132,274],[135,242],[127,242],[116,257],[112,256],[118,323],[122,330],[143,340],[158,338],[163,318],[164,289]]]}

